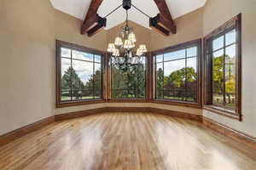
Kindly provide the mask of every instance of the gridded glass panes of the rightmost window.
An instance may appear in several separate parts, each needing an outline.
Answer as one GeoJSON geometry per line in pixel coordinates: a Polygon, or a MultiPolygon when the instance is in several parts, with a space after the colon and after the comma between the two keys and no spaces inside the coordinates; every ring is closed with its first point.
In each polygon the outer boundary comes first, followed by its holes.
{"type": "Polygon", "coordinates": [[[223,48],[212,51],[212,55],[214,56],[218,51],[223,50],[223,54],[218,56],[218,58],[222,58],[221,62],[213,57],[212,104],[223,105],[231,109],[236,107],[236,33],[234,34],[234,30],[224,33],[224,36],[222,36],[223,42],[221,43],[224,44],[223,48]],[[231,34],[235,37],[230,37],[231,34]],[[229,38],[228,40],[226,39],[227,37],[229,38]],[[216,69],[217,65],[214,65],[214,62],[222,65],[222,68],[216,69]]]}

